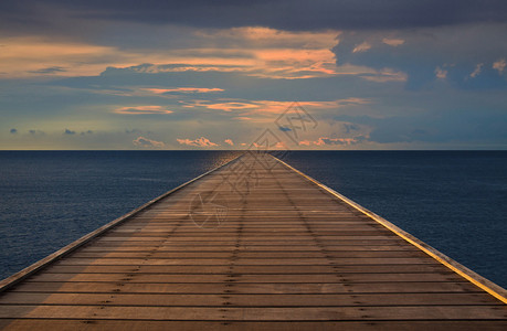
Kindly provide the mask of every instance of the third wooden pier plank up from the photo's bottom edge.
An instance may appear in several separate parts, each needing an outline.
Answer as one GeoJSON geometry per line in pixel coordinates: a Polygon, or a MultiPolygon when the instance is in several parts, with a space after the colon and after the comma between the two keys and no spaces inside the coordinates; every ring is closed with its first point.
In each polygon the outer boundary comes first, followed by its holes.
{"type": "Polygon", "coordinates": [[[226,306],[226,307],[347,307],[347,306],[495,306],[487,293],[357,293],[357,295],[144,295],[9,292],[2,305],[89,306],[226,306]]]}

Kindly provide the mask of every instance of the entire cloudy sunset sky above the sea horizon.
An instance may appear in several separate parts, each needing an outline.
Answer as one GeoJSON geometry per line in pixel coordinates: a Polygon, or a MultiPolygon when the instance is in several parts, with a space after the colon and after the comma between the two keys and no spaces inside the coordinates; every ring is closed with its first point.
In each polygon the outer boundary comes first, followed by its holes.
{"type": "Polygon", "coordinates": [[[507,149],[504,0],[2,0],[0,149],[507,149]]]}

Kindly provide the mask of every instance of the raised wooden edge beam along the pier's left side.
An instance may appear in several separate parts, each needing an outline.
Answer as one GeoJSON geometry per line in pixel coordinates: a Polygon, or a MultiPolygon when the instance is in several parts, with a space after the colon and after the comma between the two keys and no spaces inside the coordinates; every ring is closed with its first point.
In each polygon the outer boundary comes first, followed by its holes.
{"type": "Polygon", "coordinates": [[[82,247],[84,244],[91,242],[92,239],[98,237],[99,235],[104,234],[105,232],[107,232],[108,229],[126,222],[127,220],[130,220],[133,216],[135,216],[136,214],[138,214],[139,212],[146,210],[147,207],[154,205],[155,203],[161,201],[162,199],[169,196],[170,194],[183,189],[184,186],[196,182],[197,180],[219,170],[219,169],[222,169],[223,167],[236,161],[237,159],[240,159],[241,157],[243,157],[244,153],[237,156],[236,158],[223,163],[222,166],[219,166],[214,169],[211,169],[210,171],[207,171],[204,173],[202,173],[201,175],[188,181],[188,182],[184,182],[182,183],[181,185],[172,189],[172,190],[169,190],[168,192],[148,201],[147,203],[142,204],[141,206],[128,212],[127,214],[123,215],[123,216],[119,216],[118,218],[98,227],[97,229],[84,235],[83,237],[78,238],[77,241],[64,246],[63,248],[56,250],[55,253],[44,257],[43,259],[30,265],[29,267],[15,273],[14,275],[3,279],[0,281],[0,293],[6,291],[7,289],[11,288],[12,286],[17,285],[18,282],[24,280],[25,278],[32,276],[33,274],[35,274],[36,271],[41,270],[42,268],[46,267],[47,265],[61,259],[62,257],[68,255],[70,253],[76,250],[77,248],[82,247]]]}

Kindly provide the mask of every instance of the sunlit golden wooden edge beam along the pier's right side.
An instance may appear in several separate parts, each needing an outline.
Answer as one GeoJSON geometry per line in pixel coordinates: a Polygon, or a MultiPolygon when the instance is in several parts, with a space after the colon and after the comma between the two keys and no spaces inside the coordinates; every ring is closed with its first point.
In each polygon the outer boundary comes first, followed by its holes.
{"type": "Polygon", "coordinates": [[[485,290],[486,292],[488,292],[493,297],[497,298],[501,302],[507,303],[507,290],[504,289],[503,287],[500,287],[499,285],[496,285],[495,282],[490,281],[489,279],[484,278],[483,276],[478,275],[477,273],[473,271],[472,269],[463,266],[462,264],[455,261],[454,259],[452,259],[451,257],[446,256],[445,254],[439,252],[436,248],[427,245],[426,243],[418,239],[416,237],[414,237],[410,233],[408,233],[408,232],[401,229],[400,227],[395,226],[394,224],[392,224],[388,220],[385,220],[385,218],[377,215],[376,213],[367,210],[366,207],[361,206],[357,202],[353,202],[352,200],[348,199],[347,196],[336,192],[335,190],[328,188],[327,185],[320,183],[319,181],[313,179],[311,177],[303,173],[302,171],[295,169],[294,167],[287,164],[286,162],[279,160],[278,158],[276,158],[276,157],[274,157],[272,154],[270,154],[270,156],[273,159],[275,159],[276,161],[278,161],[282,164],[284,164],[285,167],[287,167],[288,169],[295,171],[296,173],[298,173],[303,178],[305,178],[308,181],[313,182],[317,186],[326,190],[327,192],[331,193],[332,195],[335,195],[336,197],[338,197],[342,202],[347,203],[348,205],[350,205],[353,209],[358,210],[359,212],[366,214],[367,216],[369,216],[373,221],[376,221],[379,224],[383,225],[385,228],[390,229],[391,232],[393,232],[394,234],[397,234],[398,236],[403,238],[405,242],[412,244],[413,246],[418,247],[422,252],[426,253],[429,256],[431,256],[432,258],[434,258],[435,260],[437,260],[442,265],[446,266],[451,270],[455,271],[456,274],[458,274],[460,276],[462,276],[463,278],[465,278],[469,282],[472,282],[475,286],[479,287],[480,289],[485,290]]]}

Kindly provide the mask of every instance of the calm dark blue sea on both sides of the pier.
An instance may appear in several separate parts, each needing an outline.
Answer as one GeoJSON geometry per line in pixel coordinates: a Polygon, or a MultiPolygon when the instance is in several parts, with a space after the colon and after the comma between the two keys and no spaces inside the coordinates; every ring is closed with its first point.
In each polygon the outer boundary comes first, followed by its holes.
{"type": "MultiPolygon", "coordinates": [[[[0,152],[0,278],[234,157],[0,152]]],[[[292,152],[285,160],[507,287],[507,152],[292,152]]]]}

